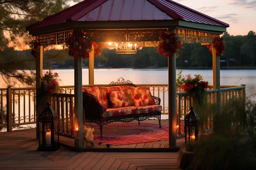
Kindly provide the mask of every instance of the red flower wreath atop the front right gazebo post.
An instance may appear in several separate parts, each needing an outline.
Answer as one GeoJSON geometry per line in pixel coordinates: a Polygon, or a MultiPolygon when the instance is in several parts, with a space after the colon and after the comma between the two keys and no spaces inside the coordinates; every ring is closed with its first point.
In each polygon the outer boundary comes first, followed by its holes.
{"type": "Polygon", "coordinates": [[[177,51],[181,49],[182,43],[175,35],[175,33],[171,33],[170,31],[161,33],[161,40],[157,47],[161,55],[173,57],[173,54],[177,53],[177,51]]]}

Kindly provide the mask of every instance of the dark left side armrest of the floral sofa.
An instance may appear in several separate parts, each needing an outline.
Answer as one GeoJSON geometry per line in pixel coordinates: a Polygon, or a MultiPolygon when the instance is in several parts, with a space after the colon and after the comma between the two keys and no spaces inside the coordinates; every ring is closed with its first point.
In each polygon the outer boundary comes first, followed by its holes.
{"type": "Polygon", "coordinates": [[[87,118],[102,119],[103,108],[92,94],[83,92],[83,112],[85,121],[87,118]]]}

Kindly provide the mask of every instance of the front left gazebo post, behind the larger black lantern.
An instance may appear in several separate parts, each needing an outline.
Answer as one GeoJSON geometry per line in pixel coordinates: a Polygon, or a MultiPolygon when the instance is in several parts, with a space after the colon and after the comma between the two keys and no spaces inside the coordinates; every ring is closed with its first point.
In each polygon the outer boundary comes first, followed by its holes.
{"type": "Polygon", "coordinates": [[[74,114],[79,121],[79,130],[75,136],[76,151],[83,151],[83,93],[82,93],[82,57],[74,59],[74,114]]]}

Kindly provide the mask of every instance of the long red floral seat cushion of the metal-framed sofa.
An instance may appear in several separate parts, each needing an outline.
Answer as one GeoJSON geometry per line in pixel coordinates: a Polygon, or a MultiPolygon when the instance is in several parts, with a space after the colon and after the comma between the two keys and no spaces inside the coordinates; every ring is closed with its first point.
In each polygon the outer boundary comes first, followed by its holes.
{"type": "Polygon", "coordinates": [[[148,106],[128,106],[121,108],[107,108],[103,112],[103,117],[113,117],[113,116],[122,116],[122,115],[136,115],[144,113],[155,113],[161,112],[161,105],[148,105],[148,106]]]}

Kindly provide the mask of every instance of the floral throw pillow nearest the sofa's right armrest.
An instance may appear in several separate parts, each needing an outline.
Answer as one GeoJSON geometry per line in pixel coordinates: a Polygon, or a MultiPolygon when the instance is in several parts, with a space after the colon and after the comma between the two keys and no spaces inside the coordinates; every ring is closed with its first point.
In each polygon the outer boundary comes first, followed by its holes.
{"type": "Polygon", "coordinates": [[[132,92],[135,106],[155,104],[155,100],[151,95],[149,88],[136,87],[132,92]]]}

